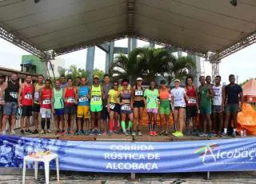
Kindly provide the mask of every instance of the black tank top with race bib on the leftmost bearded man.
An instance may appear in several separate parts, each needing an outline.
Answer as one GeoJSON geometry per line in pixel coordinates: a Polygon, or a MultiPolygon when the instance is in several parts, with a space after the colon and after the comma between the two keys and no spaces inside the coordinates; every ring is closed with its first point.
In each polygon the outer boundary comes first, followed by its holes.
{"type": "Polygon", "coordinates": [[[8,86],[5,90],[5,102],[18,102],[18,89],[19,84],[8,82],[8,86]]]}

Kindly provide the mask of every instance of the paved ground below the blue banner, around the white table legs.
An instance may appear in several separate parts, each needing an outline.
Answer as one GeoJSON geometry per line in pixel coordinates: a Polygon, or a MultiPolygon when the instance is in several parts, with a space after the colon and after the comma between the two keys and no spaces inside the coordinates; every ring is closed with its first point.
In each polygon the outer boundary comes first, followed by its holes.
{"type": "MultiPolygon", "coordinates": [[[[218,172],[210,173],[210,179],[206,179],[206,173],[184,173],[184,174],[137,174],[136,181],[130,181],[130,174],[95,174],[85,172],[62,171],[60,174],[60,183],[72,184],[158,184],[158,183],[256,183],[256,172],[218,172]]],[[[44,172],[39,171],[38,180],[34,180],[33,170],[26,172],[26,183],[45,183],[44,172]]],[[[0,169],[1,184],[22,183],[22,170],[19,169],[0,169]]],[[[54,170],[50,172],[50,183],[58,183],[54,170]]]]}

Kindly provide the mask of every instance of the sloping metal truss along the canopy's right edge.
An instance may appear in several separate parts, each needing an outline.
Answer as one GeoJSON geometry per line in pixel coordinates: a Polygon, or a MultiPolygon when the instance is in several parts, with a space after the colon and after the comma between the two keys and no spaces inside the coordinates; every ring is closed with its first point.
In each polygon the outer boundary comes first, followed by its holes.
{"type": "Polygon", "coordinates": [[[230,54],[234,54],[238,50],[242,50],[246,46],[250,46],[256,42],[256,32],[250,34],[246,38],[242,38],[238,42],[235,42],[232,46],[226,47],[226,49],[214,54],[213,58],[210,60],[219,61],[222,58],[229,56],[230,54]]]}

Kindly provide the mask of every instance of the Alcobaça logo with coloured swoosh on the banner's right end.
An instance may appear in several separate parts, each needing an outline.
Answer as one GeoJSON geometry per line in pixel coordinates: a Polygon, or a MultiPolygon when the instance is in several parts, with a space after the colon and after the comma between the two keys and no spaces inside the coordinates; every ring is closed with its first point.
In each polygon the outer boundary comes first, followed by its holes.
{"type": "Polygon", "coordinates": [[[206,146],[200,147],[194,151],[194,154],[199,154],[202,158],[202,163],[218,162],[221,159],[240,159],[247,158],[250,161],[256,157],[256,148],[242,147],[239,149],[221,150],[220,146],[215,143],[210,143],[206,146]]]}

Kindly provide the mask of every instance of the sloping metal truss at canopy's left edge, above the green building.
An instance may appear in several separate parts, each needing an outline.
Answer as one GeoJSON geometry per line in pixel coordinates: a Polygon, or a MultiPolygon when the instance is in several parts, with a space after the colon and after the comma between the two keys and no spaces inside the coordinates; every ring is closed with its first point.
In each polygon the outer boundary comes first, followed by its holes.
{"type": "Polygon", "coordinates": [[[45,52],[43,52],[42,50],[39,50],[36,46],[33,46],[29,42],[26,42],[25,39],[22,39],[17,35],[10,33],[3,26],[0,26],[0,38],[3,38],[6,41],[11,42],[15,46],[18,46],[23,50],[26,50],[31,54],[34,54],[38,58],[42,58],[42,59],[49,58],[47,57],[47,54],[45,52]]]}

